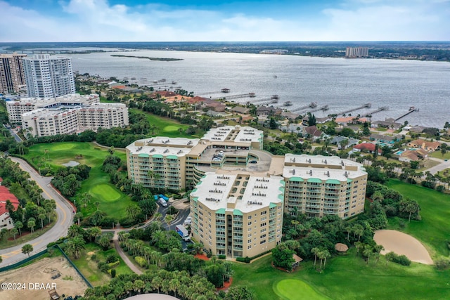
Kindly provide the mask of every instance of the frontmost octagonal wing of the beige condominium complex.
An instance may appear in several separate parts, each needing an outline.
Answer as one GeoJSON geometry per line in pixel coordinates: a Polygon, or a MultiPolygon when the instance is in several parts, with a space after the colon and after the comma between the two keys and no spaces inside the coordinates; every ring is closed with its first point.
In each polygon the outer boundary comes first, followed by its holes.
{"type": "Polygon", "coordinates": [[[281,176],[207,173],[191,193],[191,230],[212,254],[255,256],[276,247],[283,226],[281,176]]]}

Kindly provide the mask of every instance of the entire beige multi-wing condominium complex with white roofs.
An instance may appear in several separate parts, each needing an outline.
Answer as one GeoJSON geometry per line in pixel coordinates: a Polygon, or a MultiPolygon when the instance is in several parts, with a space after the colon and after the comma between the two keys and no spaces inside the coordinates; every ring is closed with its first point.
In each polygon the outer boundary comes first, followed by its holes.
{"type": "Polygon", "coordinates": [[[193,238],[213,254],[255,256],[281,240],[283,212],[347,219],[364,211],[367,173],[339,157],[271,155],[262,131],[211,129],[200,139],[155,137],[127,147],[128,176],[190,195],[193,238]]]}

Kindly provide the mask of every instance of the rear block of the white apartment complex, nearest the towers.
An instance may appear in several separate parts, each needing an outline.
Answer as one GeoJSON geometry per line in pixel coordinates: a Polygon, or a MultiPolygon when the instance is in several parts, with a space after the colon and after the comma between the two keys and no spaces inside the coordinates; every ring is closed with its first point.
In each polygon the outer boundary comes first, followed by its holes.
{"type": "Polygon", "coordinates": [[[56,98],[20,98],[18,101],[7,101],[6,110],[8,111],[9,122],[22,123],[22,115],[25,112],[31,112],[39,108],[82,107],[99,102],[100,98],[97,94],[79,95],[74,93],[56,98]]]}

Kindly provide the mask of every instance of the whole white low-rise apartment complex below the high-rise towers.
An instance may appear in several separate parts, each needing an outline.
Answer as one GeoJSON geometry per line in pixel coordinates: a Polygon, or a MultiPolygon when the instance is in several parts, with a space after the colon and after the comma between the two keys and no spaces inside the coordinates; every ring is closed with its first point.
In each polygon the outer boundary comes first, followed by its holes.
{"type": "Polygon", "coordinates": [[[7,101],[10,122],[20,123],[31,136],[72,134],[129,125],[123,103],[99,103],[98,95],[72,94],[56,98],[7,101]]]}

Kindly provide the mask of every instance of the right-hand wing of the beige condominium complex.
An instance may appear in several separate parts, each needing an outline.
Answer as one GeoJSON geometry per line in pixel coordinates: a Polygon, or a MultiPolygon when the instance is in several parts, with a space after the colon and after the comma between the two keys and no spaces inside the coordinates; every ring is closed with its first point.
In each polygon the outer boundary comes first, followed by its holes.
{"type": "Polygon", "coordinates": [[[364,212],[367,173],[362,164],[337,156],[284,157],[285,212],[347,219],[364,212]]]}

